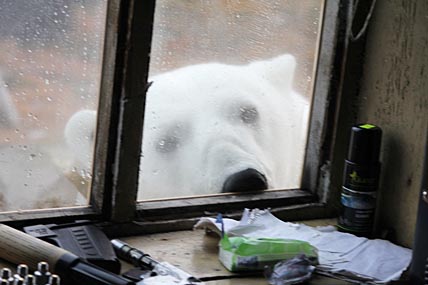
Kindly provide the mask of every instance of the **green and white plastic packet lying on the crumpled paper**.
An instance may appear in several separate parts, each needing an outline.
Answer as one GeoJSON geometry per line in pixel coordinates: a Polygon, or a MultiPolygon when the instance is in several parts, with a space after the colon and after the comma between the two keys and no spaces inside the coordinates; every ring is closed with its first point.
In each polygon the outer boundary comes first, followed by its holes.
{"type": "Polygon", "coordinates": [[[292,239],[228,237],[220,240],[219,259],[229,271],[263,270],[304,254],[318,264],[318,251],[310,243],[292,239]]]}

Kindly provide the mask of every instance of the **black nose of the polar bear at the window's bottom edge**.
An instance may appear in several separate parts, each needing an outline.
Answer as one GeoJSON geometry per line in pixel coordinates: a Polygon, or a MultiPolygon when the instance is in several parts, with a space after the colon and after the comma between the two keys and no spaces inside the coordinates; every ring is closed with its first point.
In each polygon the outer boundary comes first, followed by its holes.
{"type": "Polygon", "coordinates": [[[229,176],[223,184],[222,192],[248,192],[267,188],[266,177],[259,171],[248,168],[229,176]]]}

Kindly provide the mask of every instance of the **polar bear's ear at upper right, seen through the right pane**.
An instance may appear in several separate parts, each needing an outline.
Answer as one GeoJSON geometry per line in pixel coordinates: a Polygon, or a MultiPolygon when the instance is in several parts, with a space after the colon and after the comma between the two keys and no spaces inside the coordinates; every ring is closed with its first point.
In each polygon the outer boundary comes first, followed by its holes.
{"type": "Polygon", "coordinates": [[[293,86],[296,59],[284,54],[266,61],[257,61],[249,65],[256,73],[278,90],[290,90],[293,86]]]}

